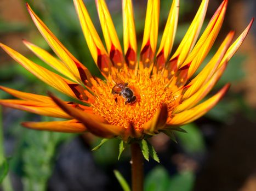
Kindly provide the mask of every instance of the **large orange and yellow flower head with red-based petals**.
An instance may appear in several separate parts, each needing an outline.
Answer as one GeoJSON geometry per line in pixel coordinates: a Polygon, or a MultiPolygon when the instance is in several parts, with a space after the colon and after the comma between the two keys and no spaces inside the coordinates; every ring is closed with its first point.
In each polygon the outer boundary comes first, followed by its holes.
{"type": "Polygon", "coordinates": [[[234,31],[228,33],[206,67],[194,77],[220,31],[227,0],[221,3],[197,40],[208,6],[208,0],[202,1],[195,19],[173,55],[170,52],[177,29],[179,0],[173,0],[158,51],[160,1],[149,0],[139,59],[131,0],[122,1],[123,50],[104,0],[96,0],[96,7],[106,49],[83,1],[73,1],[90,53],[105,79],[92,76],[27,4],[33,22],[59,59],[29,41],[24,40],[24,43],[62,75],[33,63],[6,45],[1,44],[1,47],[33,75],[79,102],[64,102],[51,93],[48,97],[1,87],[3,91],[19,98],[0,100],[4,106],[67,119],[22,123],[25,127],[71,133],[88,131],[104,138],[118,136],[127,141],[129,138],[144,139],[145,135],[173,130],[190,123],[212,109],[229,88],[227,84],[213,97],[199,103],[219,80],[253,22],[252,19],[232,44],[234,31]]]}

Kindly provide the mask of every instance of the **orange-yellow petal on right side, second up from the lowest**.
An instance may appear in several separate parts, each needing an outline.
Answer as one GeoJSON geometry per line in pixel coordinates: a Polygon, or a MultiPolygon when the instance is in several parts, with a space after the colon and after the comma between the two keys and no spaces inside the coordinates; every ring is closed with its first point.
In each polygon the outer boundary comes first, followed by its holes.
{"type": "MultiPolygon", "coordinates": [[[[227,63],[227,62],[226,62],[227,63]]],[[[181,111],[190,109],[194,107],[198,102],[200,102],[204,97],[207,96],[207,94],[211,91],[211,89],[214,87],[214,85],[217,83],[217,81],[220,79],[221,75],[223,74],[224,70],[226,68],[226,64],[222,65],[221,68],[219,68],[214,75],[211,77],[208,82],[203,85],[198,91],[191,96],[190,98],[184,100],[181,104],[179,104],[174,110],[173,114],[178,114],[181,111]]]]}

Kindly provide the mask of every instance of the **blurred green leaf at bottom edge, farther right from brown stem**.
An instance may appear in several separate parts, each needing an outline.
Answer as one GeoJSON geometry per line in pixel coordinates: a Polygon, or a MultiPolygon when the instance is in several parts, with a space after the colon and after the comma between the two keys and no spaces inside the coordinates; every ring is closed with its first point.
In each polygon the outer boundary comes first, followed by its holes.
{"type": "Polygon", "coordinates": [[[169,191],[191,191],[195,182],[195,175],[192,171],[183,171],[170,177],[169,191]]]}

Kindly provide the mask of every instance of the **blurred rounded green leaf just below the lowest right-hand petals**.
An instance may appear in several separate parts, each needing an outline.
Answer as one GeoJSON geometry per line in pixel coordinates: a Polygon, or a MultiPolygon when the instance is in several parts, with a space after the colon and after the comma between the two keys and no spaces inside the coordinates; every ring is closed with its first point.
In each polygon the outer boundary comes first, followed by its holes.
{"type": "Polygon", "coordinates": [[[187,130],[187,134],[177,132],[179,144],[189,153],[201,153],[206,150],[203,135],[198,127],[191,123],[183,126],[187,130]]]}

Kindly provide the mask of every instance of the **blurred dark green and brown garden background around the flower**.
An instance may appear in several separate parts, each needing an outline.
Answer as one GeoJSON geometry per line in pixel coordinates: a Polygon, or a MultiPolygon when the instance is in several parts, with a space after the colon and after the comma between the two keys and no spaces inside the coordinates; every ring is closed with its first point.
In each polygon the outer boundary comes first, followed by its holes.
{"type": "MultiPolygon", "coordinates": [[[[71,0],[28,0],[33,10],[60,41],[98,75],[82,35],[71,0]]],[[[143,38],[146,1],[133,1],[137,39],[143,38]]],[[[180,0],[178,32],[175,47],[199,7],[200,0],[180,0]]],[[[102,36],[93,0],[85,1],[90,16],[102,36]]],[[[161,0],[160,36],[172,0],[161,0]]],[[[206,27],[220,0],[210,0],[204,22],[206,27]]],[[[107,0],[113,22],[122,39],[121,1],[107,0]]],[[[213,56],[225,35],[231,30],[236,37],[256,15],[255,0],[232,0],[220,34],[206,61],[213,56]]],[[[27,39],[51,51],[33,25],[25,1],[0,1],[0,41],[47,67],[22,44],[27,39]]],[[[122,43],[122,40],[121,40],[122,43]]],[[[256,190],[256,25],[236,55],[213,93],[226,82],[231,89],[206,116],[184,126],[188,132],[177,133],[177,142],[159,134],[151,139],[161,163],[145,162],[145,190],[256,190]]],[[[53,91],[0,50],[0,84],[20,91],[45,94],[53,91]]],[[[0,92],[1,99],[12,97],[0,92]]],[[[106,142],[99,150],[90,150],[100,139],[90,134],[38,132],[22,128],[22,121],[54,120],[27,112],[2,108],[0,133],[0,181],[2,190],[122,190],[113,169],[130,183],[130,155],[125,150],[120,160],[118,141],[106,142]],[[5,153],[5,156],[3,156],[5,153]]]]}

